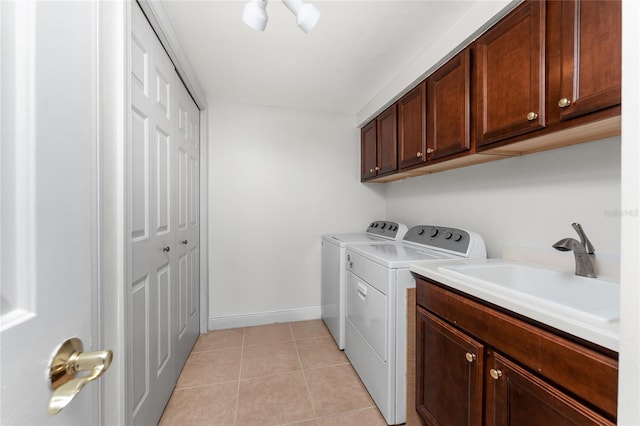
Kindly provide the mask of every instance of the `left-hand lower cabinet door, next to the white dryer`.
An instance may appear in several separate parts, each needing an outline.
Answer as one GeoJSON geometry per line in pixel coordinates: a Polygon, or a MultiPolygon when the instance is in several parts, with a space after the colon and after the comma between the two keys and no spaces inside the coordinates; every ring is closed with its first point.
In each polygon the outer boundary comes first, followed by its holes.
{"type": "Polygon", "coordinates": [[[416,410],[429,424],[482,425],[483,346],[418,306],[416,410]]]}

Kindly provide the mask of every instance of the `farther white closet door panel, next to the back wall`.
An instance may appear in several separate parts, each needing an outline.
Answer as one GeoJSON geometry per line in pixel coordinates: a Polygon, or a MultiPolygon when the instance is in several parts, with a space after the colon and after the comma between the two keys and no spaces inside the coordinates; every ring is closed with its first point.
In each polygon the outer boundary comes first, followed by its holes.
{"type": "Polygon", "coordinates": [[[178,247],[178,365],[186,361],[199,334],[200,221],[199,114],[182,84],[176,85],[176,246],[178,247]]]}

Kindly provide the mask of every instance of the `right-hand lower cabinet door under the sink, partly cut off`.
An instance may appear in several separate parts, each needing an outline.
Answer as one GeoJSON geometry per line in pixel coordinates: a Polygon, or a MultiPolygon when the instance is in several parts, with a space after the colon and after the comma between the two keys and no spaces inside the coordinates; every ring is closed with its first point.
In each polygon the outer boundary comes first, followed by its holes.
{"type": "Polygon", "coordinates": [[[613,425],[500,354],[487,362],[487,425],[613,425]]]}

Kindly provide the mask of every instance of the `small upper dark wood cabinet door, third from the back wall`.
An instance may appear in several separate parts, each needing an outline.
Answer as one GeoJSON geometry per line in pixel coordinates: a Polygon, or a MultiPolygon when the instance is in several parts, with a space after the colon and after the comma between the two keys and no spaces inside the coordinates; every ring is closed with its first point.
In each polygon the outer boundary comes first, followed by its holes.
{"type": "Polygon", "coordinates": [[[427,161],[425,91],[426,83],[422,82],[398,101],[398,161],[401,169],[427,161]]]}

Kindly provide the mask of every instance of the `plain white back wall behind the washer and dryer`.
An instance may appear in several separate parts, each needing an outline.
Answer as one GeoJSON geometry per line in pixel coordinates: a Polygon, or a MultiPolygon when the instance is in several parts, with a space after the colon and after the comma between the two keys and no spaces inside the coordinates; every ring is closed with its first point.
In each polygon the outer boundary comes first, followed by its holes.
{"type": "Polygon", "coordinates": [[[384,217],[353,116],[212,103],[209,327],[320,317],[320,236],[384,217]]]}

